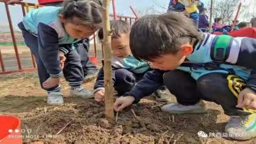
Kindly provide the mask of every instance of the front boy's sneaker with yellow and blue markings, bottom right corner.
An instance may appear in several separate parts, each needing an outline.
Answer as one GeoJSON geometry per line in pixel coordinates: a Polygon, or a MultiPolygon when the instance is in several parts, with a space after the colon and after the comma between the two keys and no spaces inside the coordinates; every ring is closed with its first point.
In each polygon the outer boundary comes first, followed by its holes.
{"type": "Polygon", "coordinates": [[[249,140],[256,137],[256,113],[245,116],[232,116],[225,126],[225,132],[235,140],[249,140]]]}

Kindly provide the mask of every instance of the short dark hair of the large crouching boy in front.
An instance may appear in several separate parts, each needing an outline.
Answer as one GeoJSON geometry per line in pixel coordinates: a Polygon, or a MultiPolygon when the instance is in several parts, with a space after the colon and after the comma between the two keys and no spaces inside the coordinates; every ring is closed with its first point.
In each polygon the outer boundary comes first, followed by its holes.
{"type": "Polygon", "coordinates": [[[201,37],[193,21],[182,13],[146,15],[132,26],[130,49],[137,59],[151,61],[162,54],[176,54],[181,45],[201,37]]]}

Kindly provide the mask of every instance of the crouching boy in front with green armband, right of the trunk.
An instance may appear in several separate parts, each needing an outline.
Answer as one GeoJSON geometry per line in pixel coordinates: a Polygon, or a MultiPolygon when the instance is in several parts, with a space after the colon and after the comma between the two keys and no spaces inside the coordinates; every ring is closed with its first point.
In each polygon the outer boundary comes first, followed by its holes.
{"type": "Polygon", "coordinates": [[[206,111],[201,99],[212,101],[230,115],[225,126],[229,137],[256,137],[256,40],[203,34],[190,24],[179,13],[144,16],[135,22],[130,32],[132,54],[159,70],[146,73],[116,99],[115,109],[138,103],[164,83],[178,103],[167,104],[162,111],[201,113],[206,111]]]}

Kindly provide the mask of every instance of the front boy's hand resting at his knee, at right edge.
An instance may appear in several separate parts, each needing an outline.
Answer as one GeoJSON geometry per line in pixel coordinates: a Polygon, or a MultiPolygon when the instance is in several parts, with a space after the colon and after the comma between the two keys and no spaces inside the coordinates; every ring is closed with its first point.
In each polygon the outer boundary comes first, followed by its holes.
{"type": "Polygon", "coordinates": [[[238,95],[236,107],[256,110],[256,92],[250,88],[244,88],[238,95]]]}

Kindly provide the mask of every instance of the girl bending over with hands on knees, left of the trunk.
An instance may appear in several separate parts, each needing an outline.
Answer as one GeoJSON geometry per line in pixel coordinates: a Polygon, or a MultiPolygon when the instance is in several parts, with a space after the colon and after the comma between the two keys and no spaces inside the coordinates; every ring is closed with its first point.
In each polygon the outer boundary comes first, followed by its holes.
{"type": "Polygon", "coordinates": [[[71,87],[71,96],[93,97],[91,92],[80,88],[83,70],[80,56],[77,51],[72,51],[72,43],[99,29],[102,23],[100,7],[95,1],[66,1],[64,7],[33,10],[18,24],[26,45],[36,57],[41,87],[48,92],[48,104],[64,103],[59,92],[62,68],[71,87]]]}

